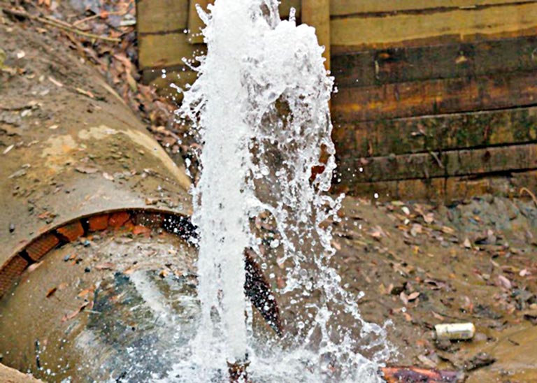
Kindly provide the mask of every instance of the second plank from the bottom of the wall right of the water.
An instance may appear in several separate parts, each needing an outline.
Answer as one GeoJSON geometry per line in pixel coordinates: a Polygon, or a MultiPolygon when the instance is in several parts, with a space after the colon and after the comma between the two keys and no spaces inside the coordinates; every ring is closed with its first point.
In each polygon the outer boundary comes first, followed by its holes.
{"type": "Polygon", "coordinates": [[[378,182],[461,177],[505,171],[537,170],[537,144],[450,150],[435,154],[339,159],[342,177],[353,182],[378,182]]]}

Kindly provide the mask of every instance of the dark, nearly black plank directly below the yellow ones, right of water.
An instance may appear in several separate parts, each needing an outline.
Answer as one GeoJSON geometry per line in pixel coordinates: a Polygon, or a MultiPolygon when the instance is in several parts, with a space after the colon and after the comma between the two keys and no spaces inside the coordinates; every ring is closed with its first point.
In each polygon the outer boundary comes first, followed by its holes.
{"type": "Polygon", "coordinates": [[[338,87],[537,69],[537,36],[333,55],[338,87]]]}

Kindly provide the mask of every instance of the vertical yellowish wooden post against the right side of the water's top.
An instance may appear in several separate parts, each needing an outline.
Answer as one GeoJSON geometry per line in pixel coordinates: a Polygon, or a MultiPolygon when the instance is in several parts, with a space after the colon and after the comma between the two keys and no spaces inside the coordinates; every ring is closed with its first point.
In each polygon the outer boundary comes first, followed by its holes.
{"type": "Polygon", "coordinates": [[[320,45],[324,45],[324,66],[330,70],[330,0],[302,0],[301,20],[315,27],[320,45]]]}

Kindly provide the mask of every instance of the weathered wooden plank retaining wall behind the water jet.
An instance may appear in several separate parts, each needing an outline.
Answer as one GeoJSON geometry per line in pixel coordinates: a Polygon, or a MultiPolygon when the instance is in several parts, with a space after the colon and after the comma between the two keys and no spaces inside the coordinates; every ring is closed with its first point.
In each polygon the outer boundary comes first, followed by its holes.
{"type": "MultiPolygon", "coordinates": [[[[203,50],[193,4],[138,0],[148,80],[176,80],[155,67],[192,80],[181,59],[203,50]]],[[[329,48],[338,190],[453,200],[537,186],[536,0],[288,0],[284,15],[289,6],[329,48]]]]}

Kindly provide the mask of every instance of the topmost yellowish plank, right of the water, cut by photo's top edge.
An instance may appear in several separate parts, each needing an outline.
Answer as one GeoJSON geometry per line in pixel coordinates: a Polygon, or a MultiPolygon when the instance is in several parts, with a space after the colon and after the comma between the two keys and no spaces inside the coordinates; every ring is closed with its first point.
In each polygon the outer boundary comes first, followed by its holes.
{"type": "Polygon", "coordinates": [[[533,3],[535,0],[332,0],[332,16],[354,15],[356,13],[390,13],[406,10],[445,10],[450,8],[471,8],[509,3],[533,3]]]}

